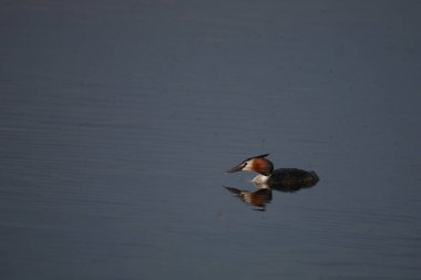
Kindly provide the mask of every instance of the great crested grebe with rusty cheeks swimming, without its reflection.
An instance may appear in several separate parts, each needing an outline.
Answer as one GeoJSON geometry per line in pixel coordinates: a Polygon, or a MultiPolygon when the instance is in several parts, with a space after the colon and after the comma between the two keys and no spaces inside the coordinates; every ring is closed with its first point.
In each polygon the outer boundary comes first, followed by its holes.
{"type": "Polygon", "coordinates": [[[226,173],[258,173],[258,175],[253,178],[253,183],[267,184],[271,188],[314,186],[319,180],[319,176],[312,170],[307,172],[299,168],[274,169],[274,164],[266,158],[268,155],[269,154],[264,154],[249,157],[226,173]]]}

